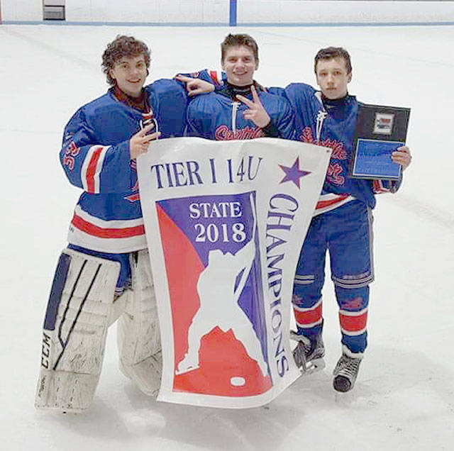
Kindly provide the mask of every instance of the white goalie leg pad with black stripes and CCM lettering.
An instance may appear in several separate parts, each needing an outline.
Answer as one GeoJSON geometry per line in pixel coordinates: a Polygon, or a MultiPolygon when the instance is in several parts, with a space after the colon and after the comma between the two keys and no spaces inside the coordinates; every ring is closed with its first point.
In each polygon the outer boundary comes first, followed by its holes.
{"type": "Polygon", "coordinates": [[[63,250],[45,315],[36,408],[77,412],[92,402],[119,272],[118,262],[63,250]]]}

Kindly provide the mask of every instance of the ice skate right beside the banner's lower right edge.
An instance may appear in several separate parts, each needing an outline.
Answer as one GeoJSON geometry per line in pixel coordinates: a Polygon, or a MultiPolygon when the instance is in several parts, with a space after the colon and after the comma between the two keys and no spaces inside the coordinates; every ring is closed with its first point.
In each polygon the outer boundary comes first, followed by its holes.
{"type": "Polygon", "coordinates": [[[317,335],[314,340],[311,340],[304,335],[298,335],[292,330],[290,338],[298,342],[293,350],[293,358],[301,372],[311,374],[325,367],[325,361],[323,360],[325,346],[321,335],[317,335]]]}

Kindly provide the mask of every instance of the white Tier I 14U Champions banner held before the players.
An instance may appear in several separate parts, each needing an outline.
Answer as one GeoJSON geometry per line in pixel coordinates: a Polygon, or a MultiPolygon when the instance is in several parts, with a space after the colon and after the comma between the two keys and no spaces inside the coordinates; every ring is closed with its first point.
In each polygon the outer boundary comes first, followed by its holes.
{"type": "Polygon", "coordinates": [[[330,155],[277,138],[170,138],[138,157],[162,338],[158,401],[256,407],[299,377],[292,286],[330,155]]]}

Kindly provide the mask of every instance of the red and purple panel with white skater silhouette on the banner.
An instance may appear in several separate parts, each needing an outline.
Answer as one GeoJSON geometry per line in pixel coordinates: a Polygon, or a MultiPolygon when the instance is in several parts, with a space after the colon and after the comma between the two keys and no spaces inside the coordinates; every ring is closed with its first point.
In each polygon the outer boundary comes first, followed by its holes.
{"type": "Polygon", "coordinates": [[[264,299],[255,288],[262,283],[255,193],[169,199],[156,208],[170,289],[173,390],[270,390],[264,299]]]}

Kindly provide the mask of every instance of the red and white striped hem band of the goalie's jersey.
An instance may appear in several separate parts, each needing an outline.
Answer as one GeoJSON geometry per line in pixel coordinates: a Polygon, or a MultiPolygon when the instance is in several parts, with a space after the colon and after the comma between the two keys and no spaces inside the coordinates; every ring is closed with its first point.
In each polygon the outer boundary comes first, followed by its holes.
{"type": "Polygon", "coordinates": [[[79,205],[74,209],[68,241],[100,252],[133,252],[147,247],[143,218],[104,221],[79,205]]]}

